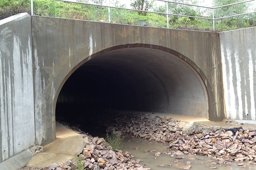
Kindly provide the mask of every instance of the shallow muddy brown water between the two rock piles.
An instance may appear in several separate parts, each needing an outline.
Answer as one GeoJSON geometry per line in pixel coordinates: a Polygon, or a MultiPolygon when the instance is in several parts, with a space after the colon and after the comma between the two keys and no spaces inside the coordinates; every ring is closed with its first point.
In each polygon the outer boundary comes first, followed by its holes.
{"type": "Polygon", "coordinates": [[[139,164],[152,170],[180,170],[182,168],[177,166],[186,166],[187,161],[191,162],[190,170],[256,170],[256,165],[248,164],[248,162],[242,162],[244,166],[238,166],[238,163],[241,162],[230,162],[231,166],[220,165],[212,157],[203,155],[184,154],[181,155],[182,159],[176,159],[177,155],[172,157],[167,154],[167,145],[140,139],[126,138],[122,144],[122,151],[130,152],[134,156],[134,160],[143,160],[139,164]],[[155,156],[157,152],[161,152],[160,156],[155,156]]]}

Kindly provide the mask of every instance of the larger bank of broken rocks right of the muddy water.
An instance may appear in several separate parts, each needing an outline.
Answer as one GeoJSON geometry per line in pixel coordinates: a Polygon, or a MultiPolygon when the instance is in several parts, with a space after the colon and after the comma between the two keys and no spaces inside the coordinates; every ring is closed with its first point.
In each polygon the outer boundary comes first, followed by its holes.
{"type": "Polygon", "coordinates": [[[104,121],[108,131],[115,129],[136,138],[162,142],[168,144],[169,151],[212,156],[219,164],[225,161],[256,162],[256,129],[225,129],[141,113],[115,117],[115,120],[104,121]]]}

